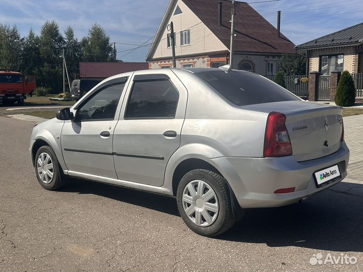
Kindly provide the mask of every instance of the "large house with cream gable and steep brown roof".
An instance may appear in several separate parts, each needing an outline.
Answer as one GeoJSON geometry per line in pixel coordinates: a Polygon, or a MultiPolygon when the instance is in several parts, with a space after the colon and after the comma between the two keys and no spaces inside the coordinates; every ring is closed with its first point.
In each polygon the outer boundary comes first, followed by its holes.
{"type": "MultiPolygon", "coordinates": [[[[171,0],[146,60],[149,69],[172,66],[168,25],[173,22],[177,67],[229,64],[231,3],[218,0],[171,0]]],[[[247,3],[235,7],[234,69],[273,76],[283,53],[294,44],[247,3]]]]}

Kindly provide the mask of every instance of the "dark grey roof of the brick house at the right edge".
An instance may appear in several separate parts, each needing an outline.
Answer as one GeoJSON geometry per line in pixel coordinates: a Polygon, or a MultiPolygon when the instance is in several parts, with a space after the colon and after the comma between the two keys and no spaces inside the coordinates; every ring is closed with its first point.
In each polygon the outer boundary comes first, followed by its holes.
{"type": "Polygon", "coordinates": [[[330,47],[336,45],[358,44],[363,41],[363,23],[344,28],[320,38],[301,43],[295,48],[308,49],[315,47],[330,47]]]}

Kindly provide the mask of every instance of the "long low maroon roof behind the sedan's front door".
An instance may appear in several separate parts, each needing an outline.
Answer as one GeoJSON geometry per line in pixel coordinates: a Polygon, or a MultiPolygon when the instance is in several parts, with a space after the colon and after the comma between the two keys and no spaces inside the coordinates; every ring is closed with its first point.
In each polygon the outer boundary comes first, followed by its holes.
{"type": "Polygon", "coordinates": [[[149,69],[147,62],[80,62],[80,74],[86,78],[108,78],[114,75],[149,69]]]}

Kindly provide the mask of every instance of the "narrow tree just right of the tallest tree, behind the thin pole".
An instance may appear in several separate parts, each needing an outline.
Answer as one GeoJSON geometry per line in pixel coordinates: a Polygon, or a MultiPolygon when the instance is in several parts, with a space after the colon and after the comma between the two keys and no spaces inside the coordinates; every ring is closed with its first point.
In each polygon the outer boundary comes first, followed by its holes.
{"type": "Polygon", "coordinates": [[[73,76],[79,74],[79,62],[82,60],[83,48],[80,41],[75,38],[74,31],[71,26],[68,26],[65,34],[65,58],[67,69],[72,80],[73,76]]]}

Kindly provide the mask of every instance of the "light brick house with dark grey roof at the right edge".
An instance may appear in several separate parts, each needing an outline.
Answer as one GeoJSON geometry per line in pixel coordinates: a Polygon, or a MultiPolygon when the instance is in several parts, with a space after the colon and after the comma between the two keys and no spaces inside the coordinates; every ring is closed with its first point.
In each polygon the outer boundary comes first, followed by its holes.
{"type": "Polygon", "coordinates": [[[334,100],[340,73],[348,71],[363,99],[363,23],[333,32],[295,47],[308,56],[309,100],[334,100]]]}

